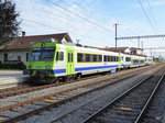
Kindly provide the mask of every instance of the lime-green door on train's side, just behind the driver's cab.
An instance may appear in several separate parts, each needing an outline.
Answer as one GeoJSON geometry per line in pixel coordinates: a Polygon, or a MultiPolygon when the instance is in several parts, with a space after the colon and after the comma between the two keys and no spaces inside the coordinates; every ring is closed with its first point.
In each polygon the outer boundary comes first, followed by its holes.
{"type": "Polygon", "coordinates": [[[74,49],[69,46],[66,52],[66,74],[74,75],[75,74],[75,63],[74,63],[74,49]]]}

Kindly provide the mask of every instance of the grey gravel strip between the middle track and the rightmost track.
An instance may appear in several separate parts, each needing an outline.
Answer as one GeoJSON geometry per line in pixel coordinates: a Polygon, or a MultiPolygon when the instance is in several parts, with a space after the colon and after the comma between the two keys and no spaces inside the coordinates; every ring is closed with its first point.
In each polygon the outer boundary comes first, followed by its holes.
{"type": "Polygon", "coordinates": [[[145,78],[152,71],[147,74],[143,74],[143,75],[138,75],[133,78],[129,78],[120,82],[110,85],[106,87],[105,89],[94,91],[91,93],[77,98],[76,100],[73,100],[69,103],[62,104],[57,108],[53,108],[52,110],[42,112],[38,115],[33,115],[24,121],[20,121],[19,123],[50,123],[53,120],[69,112],[72,113],[66,116],[63,116],[62,120],[56,121],[56,122],[57,123],[80,123],[88,116],[87,113],[90,113],[90,112],[87,112],[85,109],[90,108],[92,111],[96,108],[99,108],[99,109],[102,108],[105,105],[105,102],[113,100],[117,96],[128,90],[130,87],[132,87],[134,83],[145,78]],[[100,97],[101,99],[97,100],[97,98],[100,98],[100,97]],[[91,100],[92,102],[90,103],[91,100]],[[84,104],[87,104],[87,105],[84,105],[84,104]],[[84,105],[82,108],[84,110],[78,109],[82,105],[84,105]]]}

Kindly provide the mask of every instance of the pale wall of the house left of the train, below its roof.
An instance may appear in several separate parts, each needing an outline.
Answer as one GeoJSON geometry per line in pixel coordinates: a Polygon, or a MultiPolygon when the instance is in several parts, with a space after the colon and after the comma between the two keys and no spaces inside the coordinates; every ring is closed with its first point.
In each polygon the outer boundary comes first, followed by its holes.
{"type": "Polygon", "coordinates": [[[28,63],[28,59],[26,59],[26,55],[29,55],[29,52],[20,52],[20,51],[3,51],[3,52],[0,52],[0,62],[1,63],[4,63],[4,54],[8,55],[8,62],[19,62],[19,59],[21,59],[21,62],[23,62],[25,65],[28,63]]]}

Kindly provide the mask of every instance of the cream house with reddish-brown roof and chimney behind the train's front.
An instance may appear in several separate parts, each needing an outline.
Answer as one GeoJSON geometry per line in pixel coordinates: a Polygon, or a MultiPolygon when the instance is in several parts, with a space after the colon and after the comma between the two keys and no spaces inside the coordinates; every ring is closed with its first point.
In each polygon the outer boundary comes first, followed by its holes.
{"type": "Polygon", "coordinates": [[[15,37],[9,43],[0,46],[0,62],[1,63],[16,63],[29,60],[31,46],[35,43],[42,42],[57,42],[59,44],[73,44],[70,36],[67,33],[47,34],[47,35],[33,35],[15,37]]]}

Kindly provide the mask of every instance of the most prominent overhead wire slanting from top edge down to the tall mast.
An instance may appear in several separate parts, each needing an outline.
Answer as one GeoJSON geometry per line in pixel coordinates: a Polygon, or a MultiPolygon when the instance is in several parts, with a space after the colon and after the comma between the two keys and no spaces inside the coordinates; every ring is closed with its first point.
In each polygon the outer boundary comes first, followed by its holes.
{"type": "Polygon", "coordinates": [[[86,19],[86,18],[79,15],[78,13],[75,13],[75,12],[73,12],[73,11],[70,11],[70,10],[68,10],[68,9],[66,9],[66,8],[63,8],[63,7],[58,5],[57,3],[52,2],[51,0],[47,0],[47,2],[50,2],[50,3],[52,3],[52,4],[54,4],[54,5],[56,5],[56,7],[61,8],[61,9],[63,9],[63,10],[65,10],[65,11],[67,11],[67,12],[69,12],[69,13],[72,13],[72,14],[76,15],[76,16],[78,16],[78,18],[80,18],[80,19],[84,19],[84,20],[88,21],[89,23],[91,23],[91,24],[94,24],[94,25],[97,25],[97,26],[99,26],[99,27],[101,27],[101,29],[105,29],[105,30],[107,30],[107,31],[113,33],[111,30],[109,30],[109,29],[107,29],[107,27],[105,27],[105,26],[101,26],[101,25],[97,24],[96,22],[92,22],[92,21],[88,20],[88,19],[86,19]]]}

